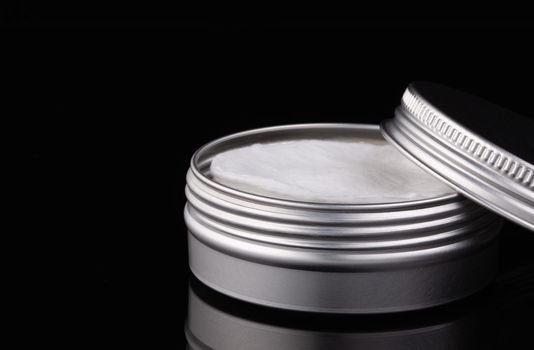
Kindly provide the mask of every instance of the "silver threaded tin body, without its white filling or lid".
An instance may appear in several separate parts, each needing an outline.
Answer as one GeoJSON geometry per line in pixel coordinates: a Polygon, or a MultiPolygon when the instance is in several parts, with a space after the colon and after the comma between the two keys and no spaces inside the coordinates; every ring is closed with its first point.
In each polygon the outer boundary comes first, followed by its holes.
{"type": "Polygon", "coordinates": [[[383,142],[377,126],[308,124],[230,135],[198,150],[187,174],[189,264],[206,285],[252,303],[335,313],[427,308],[494,276],[500,217],[460,194],[384,204],[281,200],[210,179],[212,157],[257,142],[383,142]]]}

